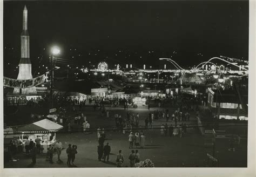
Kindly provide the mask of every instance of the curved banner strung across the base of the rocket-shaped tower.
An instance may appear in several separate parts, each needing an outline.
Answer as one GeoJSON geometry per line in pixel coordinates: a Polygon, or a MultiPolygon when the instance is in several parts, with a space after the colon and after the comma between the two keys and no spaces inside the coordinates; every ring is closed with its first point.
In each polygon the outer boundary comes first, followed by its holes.
{"type": "Polygon", "coordinates": [[[12,88],[29,88],[29,87],[37,86],[39,84],[43,84],[45,79],[46,79],[45,74],[33,79],[28,79],[28,80],[17,80],[17,79],[4,77],[4,86],[12,87],[12,88]]]}

